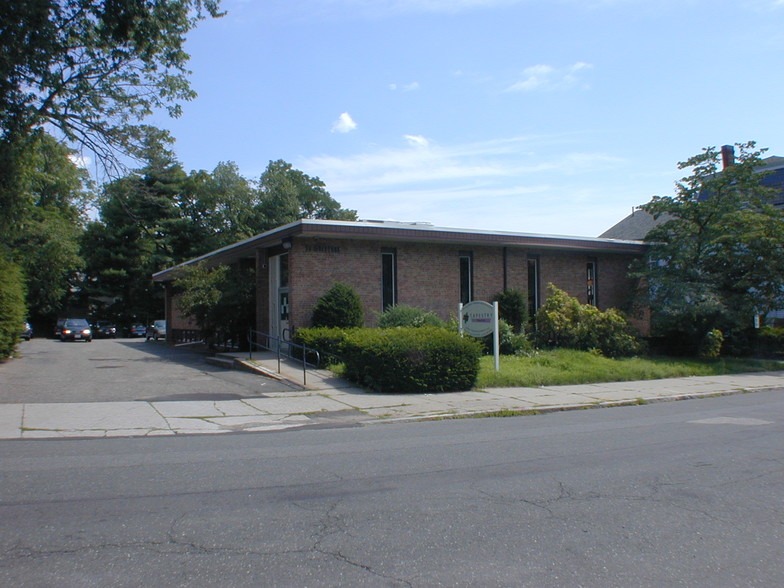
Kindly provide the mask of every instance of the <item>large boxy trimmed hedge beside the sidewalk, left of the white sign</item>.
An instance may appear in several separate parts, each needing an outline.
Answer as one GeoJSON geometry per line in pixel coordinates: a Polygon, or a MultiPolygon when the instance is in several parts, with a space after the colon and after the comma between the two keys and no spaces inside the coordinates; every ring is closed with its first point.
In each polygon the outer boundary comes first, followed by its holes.
{"type": "Polygon", "coordinates": [[[438,327],[358,329],[343,345],[345,376],[377,392],[470,390],[481,344],[438,327]]]}

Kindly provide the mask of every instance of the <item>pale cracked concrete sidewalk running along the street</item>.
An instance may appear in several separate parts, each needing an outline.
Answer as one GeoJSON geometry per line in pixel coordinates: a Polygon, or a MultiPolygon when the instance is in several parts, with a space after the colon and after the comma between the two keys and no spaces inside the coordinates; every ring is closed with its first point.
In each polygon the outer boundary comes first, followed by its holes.
{"type": "MultiPolygon", "coordinates": [[[[235,361],[243,361],[236,356],[235,361]]],[[[784,389],[784,372],[439,394],[375,394],[325,371],[259,357],[247,365],[291,382],[290,391],[240,400],[0,405],[0,439],[126,437],[275,431],[453,418],[498,412],[619,406],[784,389]]],[[[216,394],[220,390],[216,390],[216,394]]]]}

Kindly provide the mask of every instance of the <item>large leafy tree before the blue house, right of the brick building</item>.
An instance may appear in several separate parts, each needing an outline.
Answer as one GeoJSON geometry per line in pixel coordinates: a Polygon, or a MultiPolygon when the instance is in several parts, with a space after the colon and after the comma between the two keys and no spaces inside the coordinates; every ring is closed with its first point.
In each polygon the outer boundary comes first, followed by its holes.
{"type": "Polygon", "coordinates": [[[680,163],[692,173],[675,196],[643,206],[660,221],[636,272],[649,285],[654,328],[679,333],[692,348],[712,329],[738,334],[754,315],[784,307],[784,213],[760,183],[764,150],[753,142],[736,148],[725,169],[715,148],[680,163]]]}

